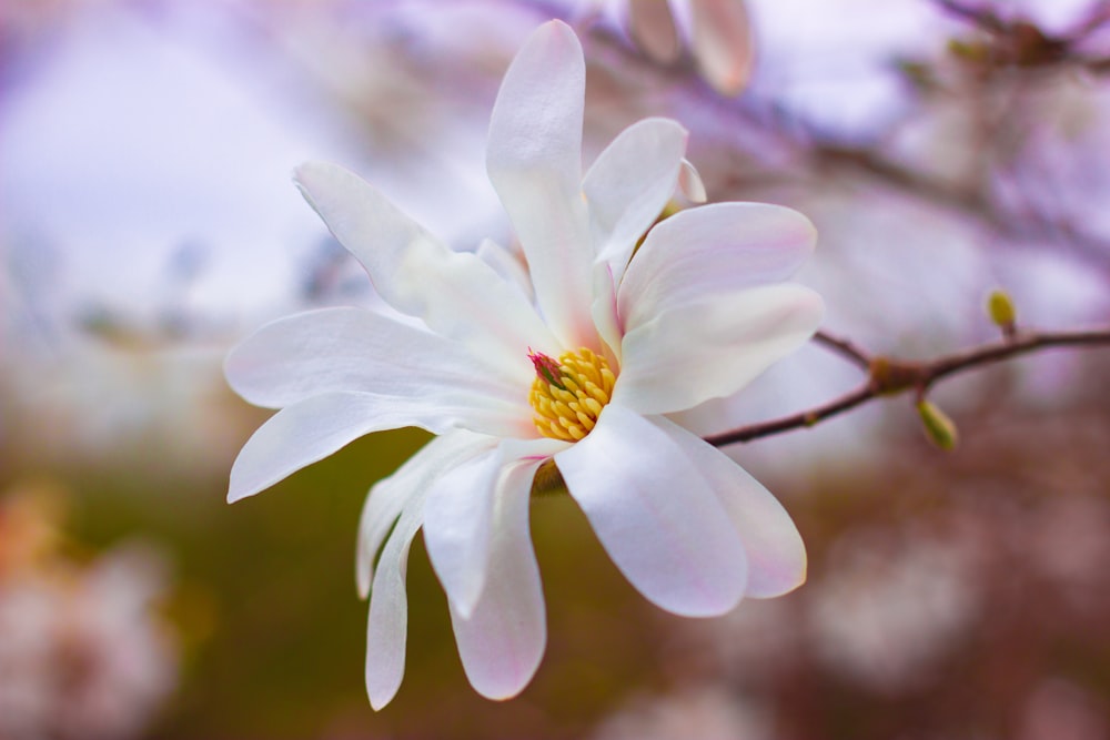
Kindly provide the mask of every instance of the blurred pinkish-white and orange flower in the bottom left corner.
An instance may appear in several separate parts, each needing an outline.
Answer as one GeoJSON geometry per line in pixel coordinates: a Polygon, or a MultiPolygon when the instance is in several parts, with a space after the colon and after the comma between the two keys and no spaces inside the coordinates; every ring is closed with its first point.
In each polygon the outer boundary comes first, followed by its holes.
{"type": "Polygon", "coordinates": [[[14,496],[0,510],[0,737],[139,734],[176,682],[176,653],[154,610],[161,558],[119,546],[87,568],[57,557],[50,511],[14,496]]]}

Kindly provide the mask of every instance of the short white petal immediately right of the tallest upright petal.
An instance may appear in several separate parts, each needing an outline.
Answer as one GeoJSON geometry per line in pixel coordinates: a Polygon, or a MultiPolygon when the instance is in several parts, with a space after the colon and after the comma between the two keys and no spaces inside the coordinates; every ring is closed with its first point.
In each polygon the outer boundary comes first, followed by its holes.
{"type": "Polygon", "coordinates": [[[639,237],[675,193],[686,138],[677,121],[638,121],[605,148],[582,182],[598,260],[617,283],[639,237]]]}

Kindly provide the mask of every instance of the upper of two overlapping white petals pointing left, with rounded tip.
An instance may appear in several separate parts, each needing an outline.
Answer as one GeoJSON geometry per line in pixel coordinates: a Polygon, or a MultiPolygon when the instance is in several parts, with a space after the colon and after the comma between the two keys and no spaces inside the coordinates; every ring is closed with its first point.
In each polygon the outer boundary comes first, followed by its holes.
{"type": "Polygon", "coordinates": [[[526,363],[497,366],[457,342],[364,308],[321,308],[266,324],[229,353],[231,387],[258,406],[281,408],[322,393],[421,397],[437,388],[448,405],[491,403],[531,419],[521,388],[526,363]]]}

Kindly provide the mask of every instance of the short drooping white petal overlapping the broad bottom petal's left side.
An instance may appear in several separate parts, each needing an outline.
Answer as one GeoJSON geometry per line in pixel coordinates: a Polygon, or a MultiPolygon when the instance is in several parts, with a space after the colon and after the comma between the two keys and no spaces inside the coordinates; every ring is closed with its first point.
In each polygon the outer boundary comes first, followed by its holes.
{"type": "Polygon", "coordinates": [[[567,443],[546,437],[504,440],[496,449],[474,457],[442,475],[427,493],[424,544],[447,601],[470,618],[486,584],[492,538],[496,536],[497,501],[503,473],[522,458],[536,466],[567,443]]]}

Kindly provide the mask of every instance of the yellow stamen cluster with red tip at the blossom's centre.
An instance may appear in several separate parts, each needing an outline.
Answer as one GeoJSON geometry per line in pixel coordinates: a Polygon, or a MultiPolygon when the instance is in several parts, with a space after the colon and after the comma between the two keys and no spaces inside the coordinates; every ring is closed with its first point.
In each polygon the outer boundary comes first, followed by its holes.
{"type": "Polygon", "coordinates": [[[539,352],[528,354],[528,358],[536,367],[528,401],[536,409],[534,422],[539,434],[566,442],[589,434],[617,382],[605,357],[583,347],[564,352],[557,362],[539,352]]]}

